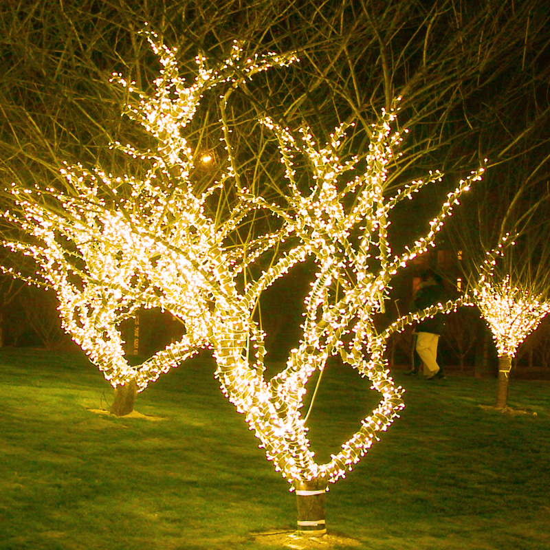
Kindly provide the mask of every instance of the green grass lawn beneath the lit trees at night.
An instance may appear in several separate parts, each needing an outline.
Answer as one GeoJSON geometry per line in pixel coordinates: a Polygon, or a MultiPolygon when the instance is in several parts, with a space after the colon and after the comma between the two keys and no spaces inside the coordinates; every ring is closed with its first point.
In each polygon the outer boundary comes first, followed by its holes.
{"type": "MultiPolygon", "coordinates": [[[[111,390],[78,354],[0,350],[0,549],[248,550],[252,531],[293,529],[294,496],[213,379],[191,362],[138,395],[161,421],[113,418],[111,390]]],[[[547,550],[550,383],[437,384],[395,373],[406,408],[327,495],[327,527],[369,550],[547,550]]],[[[330,367],[314,404],[318,456],[376,402],[330,367]]],[[[261,547],[265,550],[279,547],[261,547]]]]}

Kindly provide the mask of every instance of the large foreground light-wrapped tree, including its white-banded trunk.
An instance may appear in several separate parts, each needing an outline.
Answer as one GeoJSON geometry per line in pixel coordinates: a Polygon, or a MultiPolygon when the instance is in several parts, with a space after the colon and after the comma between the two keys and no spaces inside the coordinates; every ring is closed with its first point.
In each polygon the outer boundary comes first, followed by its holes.
{"type": "MultiPolygon", "coordinates": [[[[337,128],[331,142],[319,148],[309,129],[301,129],[298,139],[289,129],[264,119],[263,124],[278,138],[288,180],[288,205],[282,210],[261,197],[245,198],[253,205],[273,210],[283,221],[284,232],[293,232],[298,238],[298,245],[282,258],[274,259],[269,270],[255,279],[244,280],[244,285],[239,284],[241,267],[233,267],[234,254],[219,246],[212,258],[206,243],[204,256],[199,255],[200,261],[195,254],[201,248],[195,245],[192,249],[195,265],[190,262],[190,250],[179,241],[166,243],[164,246],[170,254],[164,254],[162,261],[151,265],[148,273],[162,291],[165,307],[181,318],[185,318],[189,307],[190,281],[197,285],[192,292],[195,301],[202,294],[206,296],[205,304],[210,302],[209,309],[203,307],[200,322],[204,333],[209,333],[210,347],[217,360],[216,376],[225,395],[245,414],[267,458],[274,461],[276,470],[296,489],[299,531],[325,532],[322,507],[303,501],[321,500],[328,484],[351,470],[402,408],[401,388],[396,387],[389,376],[384,358],[388,337],[412,320],[456,307],[454,303],[436,305],[421,314],[400,318],[384,331],[375,328],[375,315],[384,311],[392,278],[410,259],[433,245],[452,205],[470,181],[479,177],[479,173],[474,173],[461,181],[460,186],[449,193],[439,215],[430,222],[428,234],[393,255],[386,234],[388,214],[399,201],[410,199],[412,193],[441,179],[441,174],[435,172],[425,181],[413,181],[395,195],[384,197],[393,147],[401,141],[399,133],[391,132],[394,118],[393,111],[383,113],[380,122],[371,129],[369,154],[362,158],[350,155],[345,161],[340,160],[340,153],[346,142],[347,124],[337,128]],[[310,176],[311,186],[300,190],[304,170],[310,176]],[[289,212],[294,215],[289,217],[289,212]],[[168,257],[175,254],[172,252],[175,250],[179,256],[168,257]],[[205,271],[208,254],[212,267],[205,271]],[[311,292],[305,300],[303,336],[298,347],[291,351],[287,368],[266,380],[263,377],[264,335],[252,317],[254,306],[263,289],[309,255],[314,256],[317,267],[311,292]],[[316,371],[322,371],[327,359],[336,354],[360,375],[369,377],[372,388],[381,393],[382,399],[331,461],[318,464],[309,448],[301,409],[307,381],[316,371]],[[318,515],[310,516],[311,513],[318,515]]],[[[353,131],[353,126],[351,129],[353,131]]],[[[231,162],[231,155],[228,161],[231,162]]],[[[234,173],[231,167],[228,173],[234,173]]],[[[244,188],[243,192],[248,190],[244,188]]],[[[170,212],[177,219],[177,203],[170,206],[170,212]]],[[[216,232],[212,220],[188,214],[177,219],[173,235],[188,234],[189,225],[195,229],[193,234],[216,232]]],[[[272,246],[272,241],[264,238],[259,248],[266,246],[272,246]]],[[[250,263],[255,255],[255,251],[249,255],[250,263]]]]}

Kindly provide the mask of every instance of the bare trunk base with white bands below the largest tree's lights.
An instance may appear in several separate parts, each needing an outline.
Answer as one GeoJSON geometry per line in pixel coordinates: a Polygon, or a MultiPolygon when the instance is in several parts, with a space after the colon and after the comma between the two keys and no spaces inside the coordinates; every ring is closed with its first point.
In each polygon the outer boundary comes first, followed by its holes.
{"type": "Polygon", "coordinates": [[[296,481],[298,507],[298,534],[321,536],[327,532],[325,524],[325,493],[327,482],[320,479],[296,481]]]}

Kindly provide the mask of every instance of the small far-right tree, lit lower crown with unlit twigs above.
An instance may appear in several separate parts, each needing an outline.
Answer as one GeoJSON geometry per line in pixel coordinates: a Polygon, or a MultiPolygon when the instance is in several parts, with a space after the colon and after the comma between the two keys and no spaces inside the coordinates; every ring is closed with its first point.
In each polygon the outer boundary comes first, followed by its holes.
{"type": "Polygon", "coordinates": [[[549,157],[541,158],[537,149],[518,156],[504,177],[487,178],[477,196],[469,197],[475,202],[465,204],[447,232],[454,249],[461,250],[470,305],[478,307],[496,344],[495,407],[503,410],[518,347],[549,311],[544,214],[549,157]]]}

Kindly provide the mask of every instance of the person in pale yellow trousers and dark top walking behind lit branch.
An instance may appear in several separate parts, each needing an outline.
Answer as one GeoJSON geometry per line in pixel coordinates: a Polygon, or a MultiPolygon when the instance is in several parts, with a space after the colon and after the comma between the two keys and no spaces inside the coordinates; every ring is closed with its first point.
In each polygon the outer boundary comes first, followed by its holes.
{"type": "MultiPolygon", "coordinates": [[[[441,277],[433,270],[421,272],[420,287],[412,300],[415,310],[442,303],[444,296],[445,287],[441,277]]],[[[441,315],[423,319],[417,325],[415,349],[423,362],[426,380],[441,380],[445,377],[437,362],[437,344],[444,325],[441,315]]]]}

